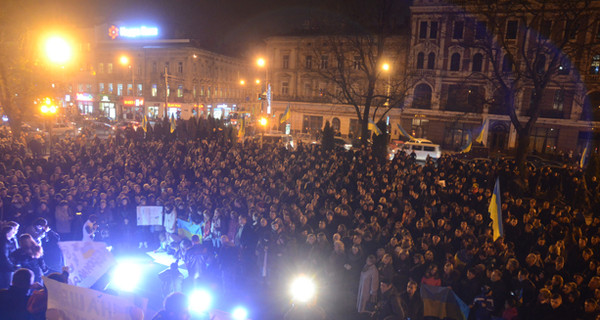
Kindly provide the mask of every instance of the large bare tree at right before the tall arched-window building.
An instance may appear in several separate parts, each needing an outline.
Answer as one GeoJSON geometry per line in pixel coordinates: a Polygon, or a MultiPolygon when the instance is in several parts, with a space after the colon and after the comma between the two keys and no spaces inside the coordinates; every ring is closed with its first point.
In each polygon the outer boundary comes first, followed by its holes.
{"type": "Polygon", "coordinates": [[[457,11],[450,19],[465,21],[467,29],[473,30],[461,45],[481,53],[487,63],[488,69],[478,76],[488,83],[494,105],[504,109],[516,129],[516,161],[522,177],[526,177],[530,136],[548,106],[545,97],[553,92],[569,95],[577,104],[577,97],[585,94],[578,73],[571,69],[582,62],[595,41],[598,1],[454,3],[462,12],[457,11]]]}

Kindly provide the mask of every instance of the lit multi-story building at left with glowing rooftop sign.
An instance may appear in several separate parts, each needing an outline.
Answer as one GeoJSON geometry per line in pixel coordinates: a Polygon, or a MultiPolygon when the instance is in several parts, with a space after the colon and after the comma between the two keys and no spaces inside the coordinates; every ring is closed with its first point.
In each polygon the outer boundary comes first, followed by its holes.
{"type": "Polygon", "coordinates": [[[66,80],[82,114],[112,119],[208,113],[219,118],[257,105],[254,71],[242,60],[210,52],[189,39],[160,39],[150,27],[102,25],[79,32],[77,67],[66,80]],[[245,83],[244,83],[245,84],[245,83]]]}

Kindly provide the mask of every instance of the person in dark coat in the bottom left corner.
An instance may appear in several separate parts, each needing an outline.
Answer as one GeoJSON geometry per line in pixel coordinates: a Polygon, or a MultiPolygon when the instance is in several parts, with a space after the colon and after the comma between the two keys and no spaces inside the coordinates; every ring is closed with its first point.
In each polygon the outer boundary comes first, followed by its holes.
{"type": "Polygon", "coordinates": [[[2,319],[28,319],[27,301],[33,285],[33,272],[21,268],[15,271],[11,286],[0,290],[0,315],[2,319]]]}

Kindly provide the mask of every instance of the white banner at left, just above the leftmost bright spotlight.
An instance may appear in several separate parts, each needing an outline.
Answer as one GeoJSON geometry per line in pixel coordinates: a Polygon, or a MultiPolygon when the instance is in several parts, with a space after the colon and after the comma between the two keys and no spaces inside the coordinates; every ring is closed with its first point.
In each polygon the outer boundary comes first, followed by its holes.
{"type": "Polygon", "coordinates": [[[65,265],[69,267],[69,283],[91,287],[115,263],[104,242],[61,241],[65,265]]]}

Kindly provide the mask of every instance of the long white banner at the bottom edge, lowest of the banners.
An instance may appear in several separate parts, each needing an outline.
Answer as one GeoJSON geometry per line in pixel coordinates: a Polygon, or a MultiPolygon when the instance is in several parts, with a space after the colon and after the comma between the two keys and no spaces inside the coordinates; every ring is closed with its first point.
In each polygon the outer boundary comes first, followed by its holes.
{"type": "Polygon", "coordinates": [[[111,296],[46,277],[44,284],[48,288],[47,320],[131,320],[141,310],[132,298],[111,296]]]}

